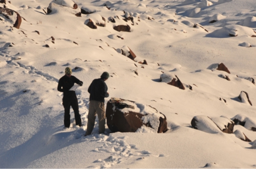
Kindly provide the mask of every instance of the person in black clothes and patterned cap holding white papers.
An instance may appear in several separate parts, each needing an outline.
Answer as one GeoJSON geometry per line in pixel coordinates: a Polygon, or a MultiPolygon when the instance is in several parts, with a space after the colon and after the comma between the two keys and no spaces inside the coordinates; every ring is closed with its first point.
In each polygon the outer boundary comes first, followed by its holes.
{"type": "Polygon", "coordinates": [[[81,117],[79,114],[79,107],[77,101],[77,95],[75,91],[70,90],[74,83],[79,84],[79,86],[83,85],[83,82],[77,79],[75,76],[72,76],[72,70],[70,67],[65,68],[65,75],[61,77],[58,82],[58,91],[63,92],[63,106],[64,106],[64,126],[70,127],[70,106],[74,110],[74,118],[76,121],[76,125],[81,127],[81,117]]]}

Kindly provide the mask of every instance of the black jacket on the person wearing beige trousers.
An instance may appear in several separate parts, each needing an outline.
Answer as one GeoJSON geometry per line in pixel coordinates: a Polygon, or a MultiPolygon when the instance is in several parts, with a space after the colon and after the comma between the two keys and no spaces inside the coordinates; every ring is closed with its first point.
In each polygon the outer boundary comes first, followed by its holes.
{"type": "Polygon", "coordinates": [[[90,93],[90,101],[94,100],[104,103],[104,98],[109,97],[109,94],[107,93],[107,85],[103,78],[94,79],[88,88],[88,92],[90,93]]]}

